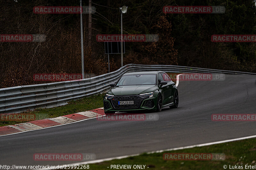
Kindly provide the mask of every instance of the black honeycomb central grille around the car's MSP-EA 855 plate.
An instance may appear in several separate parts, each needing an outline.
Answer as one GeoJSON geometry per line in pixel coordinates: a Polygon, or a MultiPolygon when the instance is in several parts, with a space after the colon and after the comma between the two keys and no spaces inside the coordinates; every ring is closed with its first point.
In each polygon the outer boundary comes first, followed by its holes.
{"type": "Polygon", "coordinates": [[[115,96],[111,99],[113,106],[115,108],[138,108],[140,107],[140,103],[142,101],[139,96],[115,96]],[[133,101],[133,105],[118,105],[118,101],[133,101]]]}

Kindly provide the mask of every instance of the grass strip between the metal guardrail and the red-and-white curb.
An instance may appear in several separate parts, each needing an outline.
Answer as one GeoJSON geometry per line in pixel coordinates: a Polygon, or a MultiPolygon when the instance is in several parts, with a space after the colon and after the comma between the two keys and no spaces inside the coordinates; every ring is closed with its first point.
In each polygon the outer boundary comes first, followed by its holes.
{"type": "MultiPolygon", "coordinates": [[[[103,107],[103,96],[104,94],[98,94],[84,99],[70,101],[68,105],[36,109],[34,111],[28,111],[23,113],[35,114],[36,120],[41,120],[45,118],[59,117],[63,115],[69,115],[78,112],[84,112],[87,110],[92,110],[96,108],[103,107]]],[[[2,116],[2,115],[1,115],[2,116]]],[[[7,125],[14,125],[18,123],[25,123],[30,121],[5,121],[4,117],[0,117],[0,127],[7,125]]]]}

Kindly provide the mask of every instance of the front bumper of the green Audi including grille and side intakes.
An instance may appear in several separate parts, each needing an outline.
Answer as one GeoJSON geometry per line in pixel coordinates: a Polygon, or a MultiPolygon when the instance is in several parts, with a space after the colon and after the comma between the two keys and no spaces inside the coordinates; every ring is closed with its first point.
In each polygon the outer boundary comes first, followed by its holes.
{"type": "Polygon", "coordinates": [[[105,111],[129,111],[129,110],[154,110],[156,109],[155,97],[142,97],[140,95],[113,96],[107,100],[104,97],[105,111]],[[133,101],[133,105],[118,105],[118,101],[133,101]]]}

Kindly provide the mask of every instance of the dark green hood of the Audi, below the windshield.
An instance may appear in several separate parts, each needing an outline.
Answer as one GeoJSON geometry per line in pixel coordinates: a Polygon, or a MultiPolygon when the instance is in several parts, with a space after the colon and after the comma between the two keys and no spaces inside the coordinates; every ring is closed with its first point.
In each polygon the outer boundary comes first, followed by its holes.
{"type": "Polygon", "coordinates": [[[124,85],[114,87],[108,91],[112,95],[135,95],[153,92],[157,89],[157,85],[124,85]]]}

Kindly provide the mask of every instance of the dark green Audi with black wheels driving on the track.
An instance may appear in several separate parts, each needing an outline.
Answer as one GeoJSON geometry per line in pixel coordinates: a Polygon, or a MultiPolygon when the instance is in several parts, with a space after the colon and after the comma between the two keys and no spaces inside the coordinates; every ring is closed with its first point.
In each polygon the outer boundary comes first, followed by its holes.
{"type": "Polygon", "coordinates": [[[156,110],[163,107],[177,108],[178,89],[163,71],[141,71],[125,73],[104,96],[104,112],[132,110],[156,110]]]}

